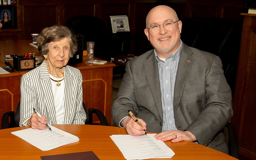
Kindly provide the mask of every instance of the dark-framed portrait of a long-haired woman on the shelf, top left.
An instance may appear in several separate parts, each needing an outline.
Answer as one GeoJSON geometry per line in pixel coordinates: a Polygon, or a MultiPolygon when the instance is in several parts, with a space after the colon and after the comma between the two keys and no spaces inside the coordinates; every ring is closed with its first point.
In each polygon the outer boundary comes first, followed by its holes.
{"type": "Polygon", "coordinates": [[[0,6],[0,19],[2,28],[16,28],[16,6],[0,6]]]}

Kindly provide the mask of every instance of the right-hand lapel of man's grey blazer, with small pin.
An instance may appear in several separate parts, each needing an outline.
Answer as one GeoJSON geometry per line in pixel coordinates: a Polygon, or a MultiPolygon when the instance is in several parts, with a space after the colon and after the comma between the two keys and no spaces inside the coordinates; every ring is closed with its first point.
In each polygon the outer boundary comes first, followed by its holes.
{"type": "Polygon", "coordinates": [[[173,96],[174,112],[180,103],[180,98],[181,98],[181,95],[183,92],[183,88],[184,88],[185,82],[188,78],[188,73],[189,73],[190,67],[194,60],[193,52],[183,42],[182,42],[182,45],[183,46],[182,46],[181,53],[180,53],[180,60],[179,60],[179,64],[178,64],[175,85],[174,85],[174,96],[173,96]]]}

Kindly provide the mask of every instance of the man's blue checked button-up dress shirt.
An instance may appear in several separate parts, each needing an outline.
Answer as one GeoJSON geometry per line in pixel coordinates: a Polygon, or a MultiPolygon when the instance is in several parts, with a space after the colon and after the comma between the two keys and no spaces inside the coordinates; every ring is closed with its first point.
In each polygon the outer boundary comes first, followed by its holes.
{"type": "Polygon", "coordinates": [[[178,130],[173,114],[173,95],[174,84],[180,60],[180,52],[182,49],[182,41],[180,40],[180,48],[165,60],[157,56],[155,50],[155,56],[158,63],[160,89],[163,108],[163,128],[162,132],[170,130],[178,130]]]}

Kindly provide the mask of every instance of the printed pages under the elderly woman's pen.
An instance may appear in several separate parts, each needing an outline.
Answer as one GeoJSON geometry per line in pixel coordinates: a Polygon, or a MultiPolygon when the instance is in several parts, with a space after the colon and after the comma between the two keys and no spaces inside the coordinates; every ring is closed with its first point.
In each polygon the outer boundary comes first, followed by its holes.
{"type": "Polygon", "coordinates": [[[79,138],[75,135],[62,131],[51,125],[49,126],[52,131],[49,129],[39,130],[28,128],[11,133],[43,151],[79,141],[79,138]]]}

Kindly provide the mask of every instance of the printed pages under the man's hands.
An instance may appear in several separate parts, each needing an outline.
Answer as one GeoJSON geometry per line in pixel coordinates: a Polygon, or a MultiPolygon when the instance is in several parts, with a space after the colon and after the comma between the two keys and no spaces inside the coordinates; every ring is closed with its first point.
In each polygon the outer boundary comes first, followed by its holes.
{"type": "Polygon", "coordinates": [[[110,138],[127,160],[149,158],[172,158],[175,153],[154,134],[133,137],[131,135],[112,135],[110,138]]]}

